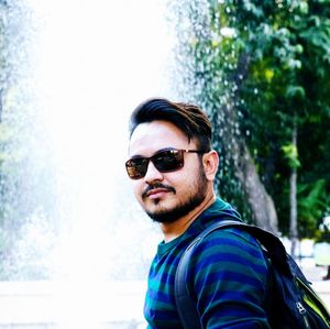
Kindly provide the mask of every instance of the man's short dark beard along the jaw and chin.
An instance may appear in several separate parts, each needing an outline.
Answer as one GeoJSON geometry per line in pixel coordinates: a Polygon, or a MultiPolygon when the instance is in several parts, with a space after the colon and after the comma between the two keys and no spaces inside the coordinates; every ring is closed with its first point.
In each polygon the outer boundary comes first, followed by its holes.
{"type": "MultiPolygon", "coordinates": [[[[160,223],[172,223],[180,219],[182,217],[189,213],[196,207],[198,207],[206,198],[207,195],[207,178],[202,168],[199,171],[198,179],[195,183],[195,193],[189,196],[188,199],[183,200],[176,207],[172,209],[160,209],[156,211],[147,211],[146,215],[155,222],[160,223]]],[[[175,194],[175,189],[172,188],[175,194]]],[[[157,204],[160,200],[155,200],[157,204]]]]}

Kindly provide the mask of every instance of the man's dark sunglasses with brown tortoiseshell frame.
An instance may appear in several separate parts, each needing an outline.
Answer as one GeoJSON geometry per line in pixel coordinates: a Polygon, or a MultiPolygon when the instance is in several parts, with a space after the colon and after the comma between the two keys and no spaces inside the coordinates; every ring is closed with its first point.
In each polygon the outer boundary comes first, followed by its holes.
{"type": "Polygon", "coordinates": [[[175,172],[185,165],[185,153],[206,153],[198,150],[176,150],[167,149],[156,152],[151,157],[136,156],[127,161],[127,172],[131,179],[143,178],[147,172],[148,163],[152,162],[161,173],[175,172]]]}

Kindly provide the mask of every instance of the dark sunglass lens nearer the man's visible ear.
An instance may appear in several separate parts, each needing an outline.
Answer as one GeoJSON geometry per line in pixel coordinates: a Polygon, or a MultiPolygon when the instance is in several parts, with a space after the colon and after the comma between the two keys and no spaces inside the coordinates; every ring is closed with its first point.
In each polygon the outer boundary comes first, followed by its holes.
{"type": "Polygon", "coordinates": [[[179,150],[167,150],[155,154],[152,158],[160,172],[173,172],[184,166],[184,154],[179,150]]]}

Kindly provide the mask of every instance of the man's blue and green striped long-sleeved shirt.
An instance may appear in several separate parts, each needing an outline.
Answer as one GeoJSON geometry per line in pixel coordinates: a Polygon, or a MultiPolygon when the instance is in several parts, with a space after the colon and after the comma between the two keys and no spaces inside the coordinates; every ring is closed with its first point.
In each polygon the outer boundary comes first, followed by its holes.
{"type": "MultiPolygon", "coordinates": [[[[175,306],[175,273],[187,245],[206,227],[240,215],[220,198],[177,239],[160,243],[151,264],[144,316],[151,329],[183,328],[175,306]]],[[[256,240],[238,228],[216,230],[195,249],[187,283],[202,328],[271,328],[265,314],[267,263],[256,240]]]]}

